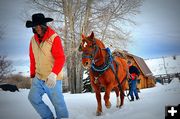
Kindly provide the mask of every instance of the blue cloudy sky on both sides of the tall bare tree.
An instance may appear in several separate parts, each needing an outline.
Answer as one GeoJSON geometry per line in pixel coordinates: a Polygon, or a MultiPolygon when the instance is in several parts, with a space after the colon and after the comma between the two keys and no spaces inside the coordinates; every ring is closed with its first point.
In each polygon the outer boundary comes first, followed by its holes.
{"type": "MultiPolygon", "coordinates": [[[[0,55],[6,55],[22,69],[22,66],[29,67],[29,42],[33,35],[21,19],[27,8],[24,1],[0,1],[0,25],[4,32],[0,55]]],[[[132,42],[128,44],[128,52],[144,59],[179,55],[179,6],[179,0],[145,0],[141,13],[134,18],[137,25],[130,27],[132,42]]]]}

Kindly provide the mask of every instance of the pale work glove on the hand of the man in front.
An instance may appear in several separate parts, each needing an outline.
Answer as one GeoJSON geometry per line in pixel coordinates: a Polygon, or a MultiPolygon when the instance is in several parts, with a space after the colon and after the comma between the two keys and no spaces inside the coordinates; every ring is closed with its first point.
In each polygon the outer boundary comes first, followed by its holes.
{"type": "Polygon", "coordinates": [[[46,85],[49,88],[54,88],[56,85],[56,78],[57,78],[57,75],[55,73],[51,72],[45,81],[46,85]]]}

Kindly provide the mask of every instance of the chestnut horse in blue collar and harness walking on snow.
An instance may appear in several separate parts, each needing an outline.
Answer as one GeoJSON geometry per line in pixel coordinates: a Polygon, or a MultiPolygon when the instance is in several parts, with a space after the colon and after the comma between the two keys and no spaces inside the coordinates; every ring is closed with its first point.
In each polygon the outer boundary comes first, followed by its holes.
{"type": "Polygon", "coordinates": [[[114,89],[117,96],[116,107],[121,107],[124,104],[125,79],[128,71],[126,61],[119,57],[112,57],[105,45],[94,37],[93,32],[87,37],[82,34],[79,51],[82,51],[82,64],[89,70],[90,82],[96,93],[98,104],[96,115],[99,116],[102,113],[101,86],[105,87],[105,106],[111,107],[109,98],[111,90],[114,89]]]}

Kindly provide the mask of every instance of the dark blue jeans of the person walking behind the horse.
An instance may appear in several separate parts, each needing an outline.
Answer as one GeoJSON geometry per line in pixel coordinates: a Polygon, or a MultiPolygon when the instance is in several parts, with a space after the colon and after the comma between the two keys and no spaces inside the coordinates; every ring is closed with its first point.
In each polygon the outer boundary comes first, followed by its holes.
{"type": "Polygon", "coordinates": [[[131,99],[134,99],[134,95],[136,96],[136,99],[139,98],[137,88],[136,88],[137,80],[131,80],[131,88],[130,88],[130,96],[131,99]],[[134,94],[134,95],[133,95],[134,94]]]}

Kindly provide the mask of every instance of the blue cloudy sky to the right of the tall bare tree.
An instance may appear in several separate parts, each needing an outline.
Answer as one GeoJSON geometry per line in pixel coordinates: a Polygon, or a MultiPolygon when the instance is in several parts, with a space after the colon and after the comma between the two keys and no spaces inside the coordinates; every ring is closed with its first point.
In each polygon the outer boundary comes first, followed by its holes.
{"type": "Polygon", "coordinates": [[[145,0],[135,18],[129,51],[142,58],[180,54],[180,1],[145,0]]]}

